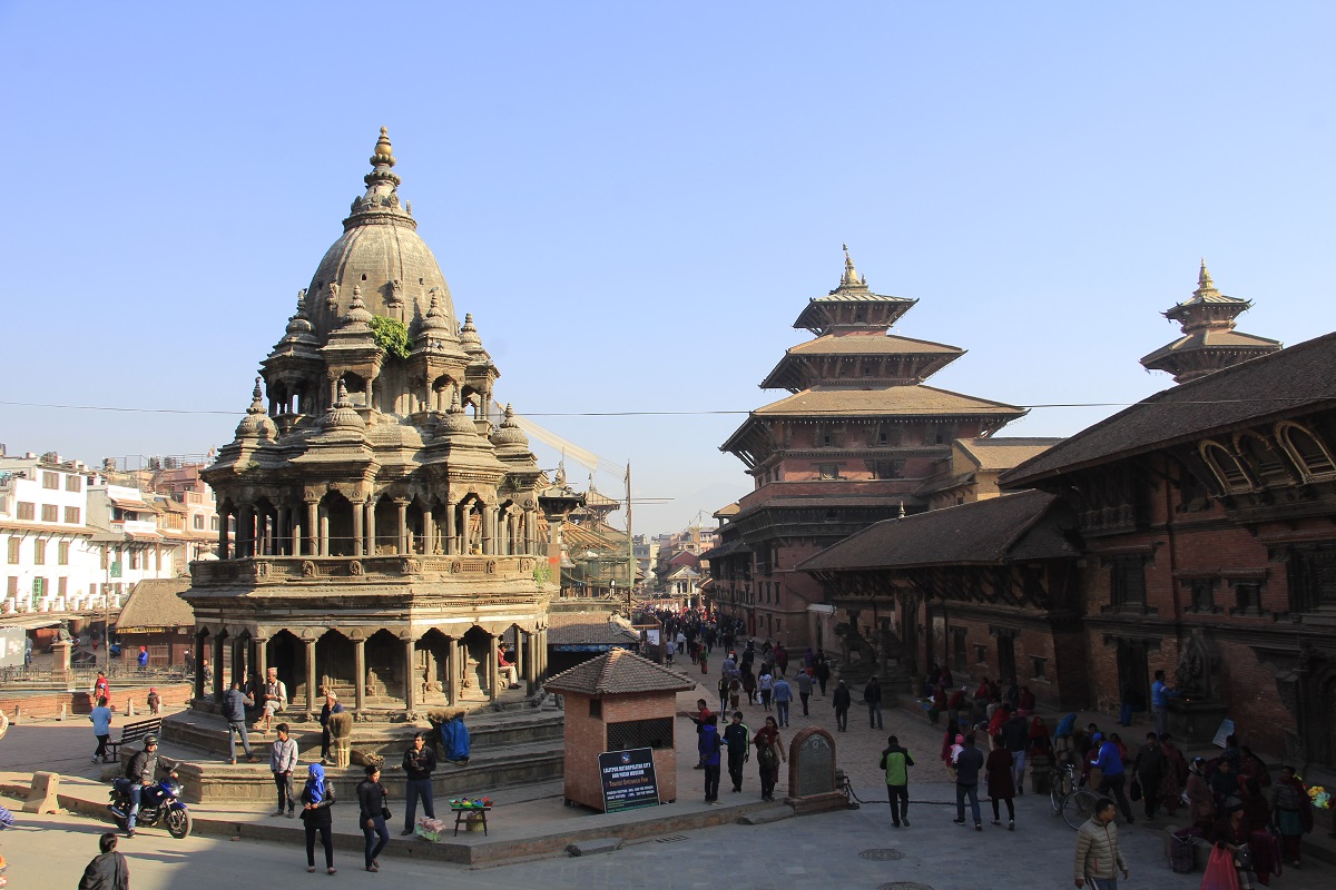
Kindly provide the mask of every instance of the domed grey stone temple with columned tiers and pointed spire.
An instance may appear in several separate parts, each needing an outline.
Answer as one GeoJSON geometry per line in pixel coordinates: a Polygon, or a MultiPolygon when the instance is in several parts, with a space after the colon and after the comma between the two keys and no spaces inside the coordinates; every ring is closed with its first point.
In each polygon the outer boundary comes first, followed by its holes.
{"type": "Polygon", "coordinates": [[[502,635],[524,679],[544,670],[548,480],[509,410],[489,412],[500,371],[457,322],[394,164],[382,128],[366,192],[202,474],[223,531],[184,594],[198,699],[206,659],[214,701],[277,667],[290,711],[317,711],[327,686],[363,717],[465,686],[496,699],[502,635]]]}

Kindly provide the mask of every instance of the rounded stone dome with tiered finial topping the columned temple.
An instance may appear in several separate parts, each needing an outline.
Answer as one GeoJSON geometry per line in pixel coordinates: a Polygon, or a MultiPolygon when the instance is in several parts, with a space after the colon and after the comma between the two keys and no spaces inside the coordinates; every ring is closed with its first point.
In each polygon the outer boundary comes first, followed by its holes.
{"type": "Polygon", "coordinates": [[[347,314],[354,287],[362,288],[373,315],[402,318],[409,328],[426,318],[434,288],[437,311],[454,327],[450,288],[432,248],[418,236],[410,208],[399,203],[394,163],[382,127],[371,172],[365,177],[366,192],[353,201],[342,238],[325,252],[307,288],[306,310],[321,342],[347,314]]]}

